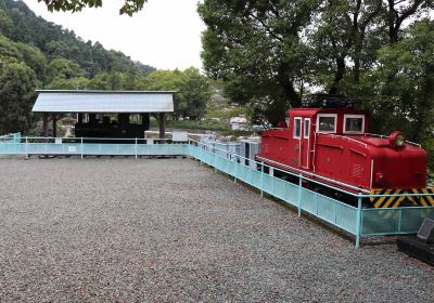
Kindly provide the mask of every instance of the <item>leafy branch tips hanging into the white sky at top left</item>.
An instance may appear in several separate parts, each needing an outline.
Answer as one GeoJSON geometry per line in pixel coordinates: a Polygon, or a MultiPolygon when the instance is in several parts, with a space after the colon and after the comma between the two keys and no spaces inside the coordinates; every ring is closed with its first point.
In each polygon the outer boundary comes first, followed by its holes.
{"type": "MultiPolygon", "coordinates": [[[[99,8],[102,6],[102,0],[38,0],[46,2],[50,11],[81,11],[84,8],[99,8]]],[[[132,15],[140,11],[145,0],[124,0],[124,4],[119,10],[120,14],[132,15]]]]}

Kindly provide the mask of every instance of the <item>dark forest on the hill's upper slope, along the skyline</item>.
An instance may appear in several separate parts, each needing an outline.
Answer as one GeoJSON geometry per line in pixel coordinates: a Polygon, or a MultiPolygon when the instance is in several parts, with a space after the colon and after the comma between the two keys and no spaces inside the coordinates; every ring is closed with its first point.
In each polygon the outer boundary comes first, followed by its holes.
{"type": "Polygon", "coordinates": [[[137,64],[120,52],[107,51],[99,42],[85,42],[74,31],[36,16],[22,1],[0,0],[0,34],[14,42],[38,48],[48,61],[71,60],[89,77],[108,71],[149,74],[155,69],[137,64]]]}

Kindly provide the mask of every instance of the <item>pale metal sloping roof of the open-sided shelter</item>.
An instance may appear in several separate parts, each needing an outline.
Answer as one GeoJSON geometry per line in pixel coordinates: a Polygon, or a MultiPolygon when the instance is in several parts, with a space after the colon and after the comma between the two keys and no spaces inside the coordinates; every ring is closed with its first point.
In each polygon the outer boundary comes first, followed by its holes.
{"type": "Polygon", "coordinates": [[[31,111],[39,113],[171,113],[174,91],[38,90],[31,111]]]}

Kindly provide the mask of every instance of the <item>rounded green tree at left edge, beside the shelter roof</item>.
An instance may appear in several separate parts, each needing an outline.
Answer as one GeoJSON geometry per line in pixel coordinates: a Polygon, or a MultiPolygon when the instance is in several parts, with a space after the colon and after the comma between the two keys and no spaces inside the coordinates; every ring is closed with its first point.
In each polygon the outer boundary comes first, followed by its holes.
{"type": "Polygon", "coordinates": [[[0,73],[0,129],[25,132],[31,127],[30,108],[38,85],[35,71],[24,63],[7,64],[0,73]]]}

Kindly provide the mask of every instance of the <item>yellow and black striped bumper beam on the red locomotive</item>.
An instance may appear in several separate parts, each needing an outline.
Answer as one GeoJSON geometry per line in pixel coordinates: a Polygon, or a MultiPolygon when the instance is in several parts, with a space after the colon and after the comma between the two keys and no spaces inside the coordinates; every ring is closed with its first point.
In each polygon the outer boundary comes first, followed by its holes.
{"type": "Polygon", "coordinates": [[[397,207],[432,207],[434,206],[433,196],[408,196],[406,194],[432,194],[434,195],[434,188],[424,189],[373,189],[371,195],[399,195],[396,197],[370,197],[370,201],[375,208],[397,208],[397,207]]]}

